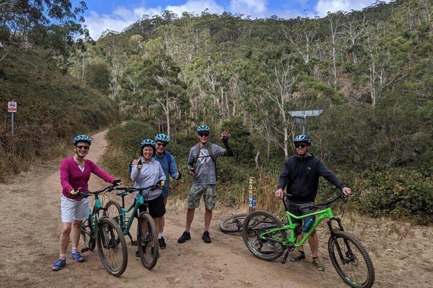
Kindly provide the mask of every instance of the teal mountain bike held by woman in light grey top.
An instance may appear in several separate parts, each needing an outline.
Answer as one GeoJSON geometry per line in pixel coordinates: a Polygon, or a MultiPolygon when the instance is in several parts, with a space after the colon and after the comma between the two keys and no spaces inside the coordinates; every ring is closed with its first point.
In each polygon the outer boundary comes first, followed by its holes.
{"type": "Polygon", "coordinates": [[[131,245],[138,246],[138,255],[140,256],[141,263],[147,269],[155,267],[159,255],[158,234],[156,232],[155,222],[149,214],[147,199],[149,196],[149,190],[154,190],[161,186],[164,186],[164,181],[145,188],[115,187],[111,190],[119,190],[116,195],[122,197],[122,206],[113,200],[110,200],[105,204],[104,216],[112,218],[122,228],[123,234],[128,235],[131,240],[131,245]],[[138,192],[138,197],[129,208],[125,209],[125,196],[132,192],[138,192]],[[146,211],[138,214],[139,206],[145,207],[146,211]],[[126,213],[131,210],[131,215],[127,217],[126,213]],[[129,232],[135,217],[138,220],[137,241],[132,240],[131,233],[129,232]]]}

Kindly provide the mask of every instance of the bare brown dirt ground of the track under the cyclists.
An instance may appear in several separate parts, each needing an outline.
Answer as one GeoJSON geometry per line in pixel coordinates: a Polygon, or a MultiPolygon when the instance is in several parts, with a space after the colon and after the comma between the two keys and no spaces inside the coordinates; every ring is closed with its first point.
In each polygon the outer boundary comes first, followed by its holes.
{"type": "MultiPolygon", "coordinates": [[[[96,163],[107,145],[105,133],[93,136],[88,158],[96,163]]],[[[58,167],[57,161],[38,165],[0,185],[0,287],[346,287],[329,260],[324,225],[319,229],[319,253],[326,271],[318,272],[312,268],[309,247],[305,248],[306,260],[281,265],[279,261],[253,257],[239,233],[224,234],[219,230],[219,220],[245,208],[233,211],[221,205],[215,210],[210,229],[212,243],[205,244],[201,240],[201,205],[191,229],[192,239],[178,244],[186,216],[185,201],[178,199],[170,199],[167,205],[167,248],[160,250],[153,270],[144,268],[134,255],[136,247],[128,245],[128,268],[121,277],[108,274],[96,249],[84,253],[83,263],[67,260],[64,269],[53,272],[51,265],[58,257],[61,230],[58,167]]],[[[91,177],[90,189],[104,185],[98,177],[91,177]]],[[[370,252],[376,287],[433,286],[433,227],[354,214],[346,214],[343,224],[370,252]]]]}

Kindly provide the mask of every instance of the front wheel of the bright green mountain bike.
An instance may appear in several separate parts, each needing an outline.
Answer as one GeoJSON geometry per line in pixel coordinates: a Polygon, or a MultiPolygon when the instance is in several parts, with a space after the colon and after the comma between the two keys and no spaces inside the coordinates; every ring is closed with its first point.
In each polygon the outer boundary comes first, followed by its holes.
{"type": "Polygon", "coordinates": [[[333,233],[328,240],[328,251],[337,273],[351,287],[371,287],[374,268],[367,250],[354,235],[340,230],[333,233]]]}

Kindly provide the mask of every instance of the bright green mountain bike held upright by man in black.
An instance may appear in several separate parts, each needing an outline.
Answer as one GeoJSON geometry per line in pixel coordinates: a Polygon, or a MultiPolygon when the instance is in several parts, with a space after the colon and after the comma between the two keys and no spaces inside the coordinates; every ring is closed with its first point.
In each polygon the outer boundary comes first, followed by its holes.
{"type": "MultiPolygon", "coordinates": [[[[291,195],[284,193],[284,196],[291,195]]],[[[281,258],[281,263],[284,264],[288,253],[295,247],[303,245],[320,222],[328,219],[326,222],[331,232],[328,252],[335,270],[351,287],[371,287],[374,283],[374,268],[367,250],[353,234],[343,229],[340,218],[334,217],[330,207],[331,203],[342,197],[343,194],[324,203],[311,204],[314,212],[299,217],[288,212],[287,204],[283,199],[286,223],[281,223],[276,216],[267,211],[252,212],[246,217],[242,229],[245,245],[255,257],[267,261],[279,258],[287,250],[281,258]],[[321,206],[323,208],[319,210],[321,206]],[[302,227],[293,223],[292,219],[310,217],[312,219],[317,217],[317,219],[313,220],[314,223],[306,229],[304,237],[297,243],[302,227]],[[332,226],[334,221],[338,227],[332,226]]]]}

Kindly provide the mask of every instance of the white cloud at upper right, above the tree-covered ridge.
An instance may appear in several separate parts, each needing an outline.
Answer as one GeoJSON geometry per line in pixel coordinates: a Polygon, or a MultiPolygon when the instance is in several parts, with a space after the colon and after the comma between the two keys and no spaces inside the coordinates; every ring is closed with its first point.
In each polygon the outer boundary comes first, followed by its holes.
{"type": "MultiPolygon", "coordinates": [[[[319,0],[315,6],[320,17],[326,16],[328,12],[362,10],[375,3],[376,0],[319,0]]],[[[386,0],[385,2],[390,2],[386,0]]]]}

